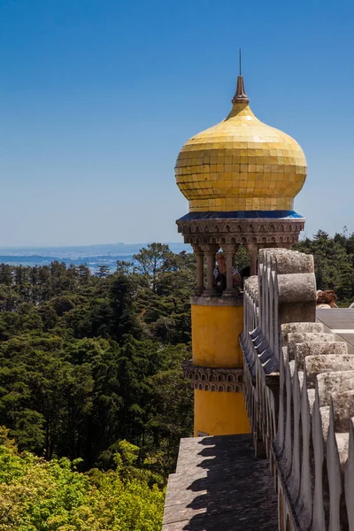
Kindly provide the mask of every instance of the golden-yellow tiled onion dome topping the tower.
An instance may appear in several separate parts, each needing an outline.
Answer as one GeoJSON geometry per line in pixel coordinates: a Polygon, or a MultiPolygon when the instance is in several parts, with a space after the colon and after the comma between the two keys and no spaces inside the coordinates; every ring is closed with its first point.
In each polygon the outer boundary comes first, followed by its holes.
{"type": "Polygon", "coordinates": [[[189,212],[292,210],[306,179],[304,151],[255,117],[241,75],[232,102],[227,118],[190,138],[177,158],[189,212]]]}

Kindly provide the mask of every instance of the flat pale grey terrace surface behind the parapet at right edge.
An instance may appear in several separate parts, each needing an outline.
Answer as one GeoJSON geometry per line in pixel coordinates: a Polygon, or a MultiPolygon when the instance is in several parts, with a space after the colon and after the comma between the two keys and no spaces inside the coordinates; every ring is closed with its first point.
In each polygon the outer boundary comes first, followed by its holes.
{"type": "Polygon", "coordinates": [[[331,308],[316,311],[316,319],[325,332],[333,332],[335,341],[348,343],[348,352],[354,354],[354,308],[331,308]]]}

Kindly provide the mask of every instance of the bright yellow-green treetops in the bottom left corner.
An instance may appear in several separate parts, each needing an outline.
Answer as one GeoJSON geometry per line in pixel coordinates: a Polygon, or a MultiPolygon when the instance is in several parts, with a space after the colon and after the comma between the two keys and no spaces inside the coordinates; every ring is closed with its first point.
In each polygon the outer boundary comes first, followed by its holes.
{"type": "MultiPolygon", "coordinates": [[[[158,531],[164,491],[119,466],[78,473],[67,458],[19,454],[0,428],[0,531],[158,531]]],[[[121,449],[131,465],[135,447],[121,449]]],[[[119,456],[120,457],[120,456],[119,456]]]]}

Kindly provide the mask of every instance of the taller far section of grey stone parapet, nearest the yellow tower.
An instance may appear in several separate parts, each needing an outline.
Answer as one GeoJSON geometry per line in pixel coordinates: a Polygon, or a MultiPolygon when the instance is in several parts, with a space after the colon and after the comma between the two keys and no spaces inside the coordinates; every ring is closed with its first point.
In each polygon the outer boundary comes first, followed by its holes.
{"type": "Polygon", "coordinates": [[[256,452],[272,458],[279,407],[281,324],[304,320],[304,315],[308,321],[315,320],[312,256],[286,249],[260,250],[258,277],[245,282],[243,305],[240,342],[245,400],[256,452]]]}

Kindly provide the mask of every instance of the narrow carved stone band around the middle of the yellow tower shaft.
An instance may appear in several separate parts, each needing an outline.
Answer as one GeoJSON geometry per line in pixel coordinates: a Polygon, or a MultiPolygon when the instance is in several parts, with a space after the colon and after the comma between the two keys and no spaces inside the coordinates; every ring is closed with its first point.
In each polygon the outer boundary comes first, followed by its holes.
{"type": "Polygon", "coordinates": [[[191,380],[192,389],[242,393],[242,368],[196,366],[193,361],[182,363],[183,376],[191,380]]]}

